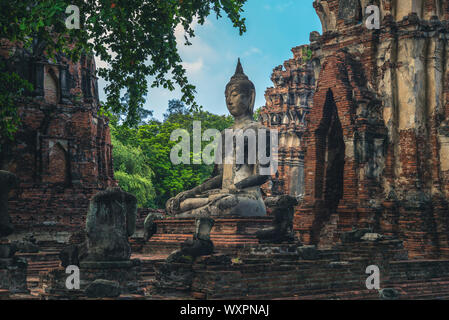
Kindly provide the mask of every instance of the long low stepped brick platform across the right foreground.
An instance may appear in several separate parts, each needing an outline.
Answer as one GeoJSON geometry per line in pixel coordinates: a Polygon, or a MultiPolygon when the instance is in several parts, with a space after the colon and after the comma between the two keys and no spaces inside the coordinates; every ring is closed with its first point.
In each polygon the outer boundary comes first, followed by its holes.
{"type": "Polygon", "coordinates": [[[193,270],[190,291],[152,298],[379,299],[365,284],[366,267],[377,265],[381,289],[394,288],[399,299],[447,299],[449,260],[399,260],[407,255],[401,247],[398,241],[357,243],[352,252],[350,245],[332,250],[261,245],[243,250],[232,263],[223,263],[223,255],[206,256],[178,266],[193,270]]]}

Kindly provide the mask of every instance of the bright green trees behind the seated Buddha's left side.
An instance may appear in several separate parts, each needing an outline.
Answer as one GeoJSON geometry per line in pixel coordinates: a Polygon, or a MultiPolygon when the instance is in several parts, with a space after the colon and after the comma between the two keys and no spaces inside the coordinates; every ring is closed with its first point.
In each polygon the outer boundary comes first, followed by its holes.
{"type": "MultiPolygon", "coordinates": [[[[130,128],[126,124],[116,124],[112,126],[111,131],[114,141],[143,151],[146,164],[154,173],[152,176],[156,194],[154,202],[158,207],[163,207],[170,197],[179,192],[202,183],[210,177],[213,170],[212,165],[206,164],[172,164],[170,152],[177,142],[170,141],[171,133],[176,129],[185,129],[193,139],[193,121],[201,121],[202,132],[212,128],[222,131],[233,123],[231,116],[218,116],[202,110],[188,110],[180,101],[172,100],[170,105],[176,105],[177,112],[172,108],[172,112],[169,111],[162,122],[152,119],[137,128],[130,128]]],[[[208,142],[202,143],[203,148],[206,144],[208,142]]],[[[192,146],[192,141],[190,145],[192,146]]],[[[192,160],[192,152],[190,157],[192,160]]],[[[114,166],[115,162],[114,151],[114,166]]]]}

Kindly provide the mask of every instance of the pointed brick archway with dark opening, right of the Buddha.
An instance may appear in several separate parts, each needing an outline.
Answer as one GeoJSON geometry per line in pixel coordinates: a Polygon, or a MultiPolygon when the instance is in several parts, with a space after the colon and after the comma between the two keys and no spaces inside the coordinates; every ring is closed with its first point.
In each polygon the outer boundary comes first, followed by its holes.
{"type": "Polygon", "coordinates": [[[354,227],[379,228],[381,205],[369,203],[382,192],[387,134],[379,105],[353,55],[340,50],[326,58],[308,116],[305,196],[295,214],[304,243],[328,247],[354,227]]]}

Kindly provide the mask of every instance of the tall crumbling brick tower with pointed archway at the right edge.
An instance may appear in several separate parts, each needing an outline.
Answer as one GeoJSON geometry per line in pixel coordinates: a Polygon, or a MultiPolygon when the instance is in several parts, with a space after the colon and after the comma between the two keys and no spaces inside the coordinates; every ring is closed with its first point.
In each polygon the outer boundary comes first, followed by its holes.
{"type": "MultiPolygon", "coordinates": [[[[322,0],[295,231],[330,246],[370,228],[410,257],[449,254],[449,2],[322,0]],[[380,8],[380,29],[365,25],[380,8]]],[[[285,129],[284,129],[285,130],[285,129]]]]}

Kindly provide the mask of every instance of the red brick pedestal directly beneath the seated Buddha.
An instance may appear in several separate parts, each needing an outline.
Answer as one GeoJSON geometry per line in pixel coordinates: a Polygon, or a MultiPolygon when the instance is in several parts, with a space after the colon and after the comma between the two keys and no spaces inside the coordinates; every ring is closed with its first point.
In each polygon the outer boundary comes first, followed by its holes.
{"type": "MultiPolygon", "coordinates": [[[[272,225],[272,217],[229,217],[215,219],[211,240],[215,251],[234,253],[239,249],[257,245],[259,242],[255,233],[272,225]]],[[[156,234],[142,246],[143,253],[168,254],[180,248],[180,243],[192,239],[195,232],[193,218],[166,218],[156,220],[156,234]]],[[[135,243],[138,240],[134,240],[135,243]]]]}

